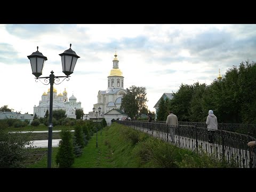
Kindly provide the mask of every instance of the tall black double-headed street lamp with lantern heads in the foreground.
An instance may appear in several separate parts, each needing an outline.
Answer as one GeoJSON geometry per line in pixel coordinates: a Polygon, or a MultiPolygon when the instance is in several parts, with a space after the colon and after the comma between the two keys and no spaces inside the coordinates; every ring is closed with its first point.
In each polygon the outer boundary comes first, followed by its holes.
{"type": "Polygon", "coordinates": [[[52,163],[52,105],[53,105],[53,84],[55,83],[55,80],[57,85],[62,83],[66,78],[67,81],[69,81],[69,75],[73,74],[76,61],[78,58],[80,58],[75,51],[71,50],[71,44],[70,48],[63,53],[59,54],[61,56],[61,62],[62,62],[62,72],[66,76],[55,76],[53,71],[51,71],[51,74],[49,77],[39,77],[42,75],[44,63],[47,60],[47,57],[45,57],[41,52],[37,51],[32,53],[31,55],[28,55],[28,59],[30,60],[32,74],[36,76],[36,82],[39,80],[41,83],[43,83],[40,79],[44,78],[44,85],[50,84],[50,114],[49,114],[49,131],[48,131],[48,154],[47,154],[47,167],[51,168],[52,163]],[[60,83],[60,77],[65,77],[60,83]]]}

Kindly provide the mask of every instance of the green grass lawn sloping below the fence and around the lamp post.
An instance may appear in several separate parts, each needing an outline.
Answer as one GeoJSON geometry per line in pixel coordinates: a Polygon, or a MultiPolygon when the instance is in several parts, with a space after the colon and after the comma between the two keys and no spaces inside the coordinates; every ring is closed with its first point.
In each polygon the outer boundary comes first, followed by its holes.
{"type": "MultiPolygon", "coordinates": [[[[96,147],[96,133],[94,133],[88,145],[84,147],[82,156],[75,158],[72,167],[138,167],[135,158],[131,155],[132,149],[130,143],[123,142],[119,138],[118,125],[105,127],[102,134],[98,131],[98,148],[96,147]]],[[[52,167],[58,167],[55,164],[57,150],[58,148],[52,148],[52,167]]],[[[47,167],[47,155],[34,165],[27,167],[47,167]]]]}

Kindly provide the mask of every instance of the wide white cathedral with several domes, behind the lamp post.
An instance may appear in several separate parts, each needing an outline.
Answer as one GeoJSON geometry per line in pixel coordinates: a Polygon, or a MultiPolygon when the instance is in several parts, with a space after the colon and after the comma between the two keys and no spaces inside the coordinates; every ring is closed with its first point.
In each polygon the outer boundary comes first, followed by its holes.
{"type": "MultiPolygon", "coordinates": [[[[82,109],[81,102],[76,102],[76,97],[74,94],[68,99],[68,93],[63,91],[63,93],[59,93],[57,95],[57,90],[53,87],[53,106],[52,110],[63,109],[66,111],[66,115],[68,118],[76,118],[76,109],[82,109]]],[[[43,93],[42,100],[39,101],[38,106],[34,106],[34,116],[44,117],[46,110],[50,112],[50,89],[48,89],[47,93],[43,93]]]]}

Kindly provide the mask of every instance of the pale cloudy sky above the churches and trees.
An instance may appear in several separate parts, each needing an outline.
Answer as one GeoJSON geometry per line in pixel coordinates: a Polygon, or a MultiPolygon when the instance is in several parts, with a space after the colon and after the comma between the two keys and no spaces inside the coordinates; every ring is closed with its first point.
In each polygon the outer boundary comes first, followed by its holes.
{"type": "MultiPolygon", "coordinates": [[[[65,88],[81,101],[84,113],[92,111],[99,90],[108,88],[115,50],[124,89],[146,87],[147,106],[163,93],[177,92],[181,83],[210,85],[242,61],[256,60],[254,24],[0,24],[0,107],[33,114],[49,85],[35,81],[28,55],[41,52],[43,75],[65,76],[60,53],[71,49],[81,57],[69,81],[54,85],[57,94],[65,88]]],[[[61,79],[62,80],[62,79],[61,79]]]]}

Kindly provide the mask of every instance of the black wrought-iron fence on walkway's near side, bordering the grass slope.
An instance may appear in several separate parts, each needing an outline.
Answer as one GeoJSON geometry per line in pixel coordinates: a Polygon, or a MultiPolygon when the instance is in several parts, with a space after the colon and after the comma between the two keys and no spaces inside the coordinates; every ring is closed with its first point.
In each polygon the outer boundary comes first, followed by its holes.
{"type": "Polygon", "coordinates": [[[225,130],[209,131],[195,125],[167,125],[143,121],[116,121],[133,129],[145,132],[180,148],[190,150],[199,146],[205,151],[214,153],[218,158],[235,161],[239,167],[256,167],[255,149],[249,148],[247,142],[256,139],[250,135],[225,130]]]}

